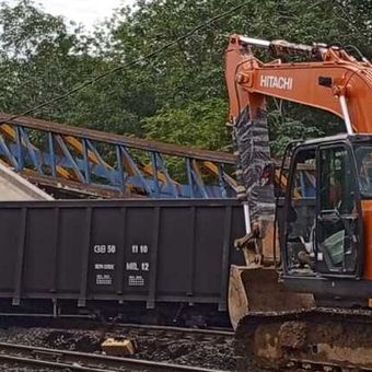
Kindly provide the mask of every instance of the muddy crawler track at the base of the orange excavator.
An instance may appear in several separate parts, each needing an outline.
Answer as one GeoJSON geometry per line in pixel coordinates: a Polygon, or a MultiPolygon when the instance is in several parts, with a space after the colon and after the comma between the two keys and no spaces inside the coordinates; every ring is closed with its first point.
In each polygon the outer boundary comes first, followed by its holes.
{"type": "Polygon", "coordinates": [[[251,313],[235,330],[239,371],[372,371],[372,311],[316,307],[251,313]]]}

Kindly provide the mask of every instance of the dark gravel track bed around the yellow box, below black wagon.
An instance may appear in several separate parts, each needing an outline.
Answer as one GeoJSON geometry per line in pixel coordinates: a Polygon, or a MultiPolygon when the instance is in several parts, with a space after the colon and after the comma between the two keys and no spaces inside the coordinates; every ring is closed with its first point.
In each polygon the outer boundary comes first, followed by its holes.
{"type": "MultiPolygon", "coordinates": [[[[107,338],[129,338],[136,340],[137,351],[131,360],[158,361],[158,369],[149,371],[232,371],[235,368],[233,354],[234,334],[230,329],[179,328],[174,326],[101,323],[86,319],[31,318],[9,319],[3,323],[0,341],[32,346],[34,350],[60,350],[94,353],[101,356],[102,342],[107,338]],[[172,368],[167,368],[172,363],[172,368]],[[181,364],[179,368],[175,369],[181,364]],[[189,367],[184,368],[184,365],[189,367]]],[[[0,328],[1,329],[1,328],[0,328]]],[[[0,352],[3,352],[0,346],[0,352]]],[[[55,358],[55,357],[54,357],[55,358]]],[[[0,356],[0,363],[3,363],[0,356]]],[[[11,359],[9,360],[11,362],[11,359]]],[[[14,364],[16,361],[13,361],[14,364]]],[[[56,362],[56,359],[53,359],[56,362]]],[[[43,363],[40,363],[43,364],[43,363]]],[[[146,367],[147,364],[144,364],[146,367]]],[[[81,365],[78,365],[80,370],[81,365]]],[[[139,365],[141,368],[141,365],[139,365]]],[[[106,368],[107,370],[107,368],[106,368]]],[[[126,370],[124,370],[126,371],[126,370]]]]}

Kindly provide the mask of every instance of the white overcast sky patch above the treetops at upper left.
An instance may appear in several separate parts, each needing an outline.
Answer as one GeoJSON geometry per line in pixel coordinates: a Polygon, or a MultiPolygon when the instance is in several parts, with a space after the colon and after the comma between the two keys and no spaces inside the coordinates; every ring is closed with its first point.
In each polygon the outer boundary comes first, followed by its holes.
{"type": "MultiPolygon", "coordinates": [[[[16,0],[5,0],[15,3],[16,0]]],[[[105,16],[109,16],[120,4],[131,4],[135,0],[35,0],[44,9],[56,15],[65,15],[69,20],[84,24],[88,28],[105,16]]]]}

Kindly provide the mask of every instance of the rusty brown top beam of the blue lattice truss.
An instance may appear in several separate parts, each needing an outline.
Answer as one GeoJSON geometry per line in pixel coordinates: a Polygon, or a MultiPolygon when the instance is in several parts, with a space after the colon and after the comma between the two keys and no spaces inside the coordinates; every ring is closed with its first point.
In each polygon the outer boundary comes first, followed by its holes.
{"type": "MultiPolygon", "coordinates": [[[[7,121],[12,116],[5,113],[0,113],[0,120],[7,121]]],[[[129,146],[135,149],[142,149],[149,151],[159,151],[167,155],[188,156],[198,160],[209,160],[212,162],[221,162],[225,164],[234,164],[233,154],[222,151],[209,151],[186,146],[163,143],[159,141],[144,140],[140,138],[132,138],[116,133],[98,131],[94,129],[86,129],[82,127],[73,127],[67,124],[51,123],[31,117],[20,117],[11,124],[20,124],[24,127],[40,129],[45,131],[56,132],[63,136],[85,137],[91,140],[105,141],[108,143],[129,146]]]]}

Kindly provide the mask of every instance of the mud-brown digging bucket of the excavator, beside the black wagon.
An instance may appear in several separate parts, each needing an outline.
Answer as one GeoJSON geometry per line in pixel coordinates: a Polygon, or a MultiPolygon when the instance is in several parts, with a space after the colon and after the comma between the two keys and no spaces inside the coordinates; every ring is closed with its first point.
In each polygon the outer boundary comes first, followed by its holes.
{"type": "Polygon", "coordinates": [[[287,290],[272,266],[231,266],[229,314],[234,329],[249,313],[304,310],[313,305],[313,295],[287,290]]]}

